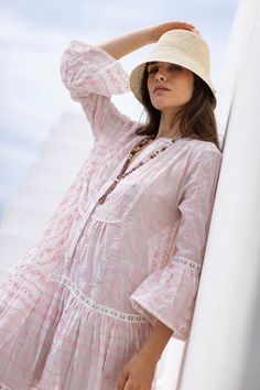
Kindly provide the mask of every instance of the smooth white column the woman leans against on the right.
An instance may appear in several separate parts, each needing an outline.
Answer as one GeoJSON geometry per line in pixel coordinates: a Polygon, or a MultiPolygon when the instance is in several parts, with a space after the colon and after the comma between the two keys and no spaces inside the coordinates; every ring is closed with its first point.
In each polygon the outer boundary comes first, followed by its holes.
{"type": "Polygon", "coordinates": [[[224,159],[177,390],[260,388],[259,42],[260,2],[242,0],[218,94],[224,159]]]}

